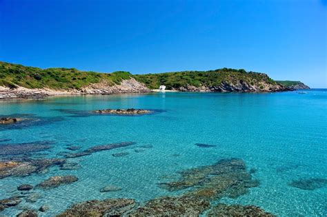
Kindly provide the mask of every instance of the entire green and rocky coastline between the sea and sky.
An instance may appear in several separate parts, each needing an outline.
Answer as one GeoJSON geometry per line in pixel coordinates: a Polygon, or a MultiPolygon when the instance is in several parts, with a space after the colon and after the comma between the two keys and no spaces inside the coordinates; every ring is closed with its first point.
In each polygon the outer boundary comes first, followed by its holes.
{"type": "Polygon", "coordinates": [[[130,74],[34,68],[0,61],[0,99],[37,99],[59,94],[143,93],[166,85],[180,92],[281,92],[309,87],[274,81],[267,74],[223,68],[210,71],[130,74]]]}

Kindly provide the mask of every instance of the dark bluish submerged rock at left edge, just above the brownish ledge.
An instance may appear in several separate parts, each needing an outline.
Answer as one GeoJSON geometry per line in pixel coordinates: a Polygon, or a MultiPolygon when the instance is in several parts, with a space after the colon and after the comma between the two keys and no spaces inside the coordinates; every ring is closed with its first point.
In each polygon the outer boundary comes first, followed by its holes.
{"type": "Polygon", "coordinates": [[[32,152],[41,152],[50,149],[52,141],[38,141],[33,143],[12,143],[0,145],[0,155],[18,155],[32,152]]]}

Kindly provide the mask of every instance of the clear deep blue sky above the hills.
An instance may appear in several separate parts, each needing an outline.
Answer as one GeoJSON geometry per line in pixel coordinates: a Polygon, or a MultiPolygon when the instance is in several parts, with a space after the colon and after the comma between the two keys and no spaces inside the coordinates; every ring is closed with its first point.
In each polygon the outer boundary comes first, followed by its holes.
{"type": "Polygon", "coordinates": [[[0,0],[0,61],[132,74],[243,68],[327,87],[327,0],[0,0]]]}

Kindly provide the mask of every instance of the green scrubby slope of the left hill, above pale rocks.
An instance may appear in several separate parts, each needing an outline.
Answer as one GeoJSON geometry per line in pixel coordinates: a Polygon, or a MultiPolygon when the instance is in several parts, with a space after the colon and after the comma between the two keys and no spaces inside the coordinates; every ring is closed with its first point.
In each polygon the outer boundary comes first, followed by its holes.
{"type": "Polygon", "coordinates": [[[132,76],[129,72],[110,74],[82,72],[75,68],[40,68],[26,67],[0,61],[0,86],[27,88],[50,87],[52,89],[79,89],[90,83],[107,81],[110,85],[120,83],[132,76]]]}

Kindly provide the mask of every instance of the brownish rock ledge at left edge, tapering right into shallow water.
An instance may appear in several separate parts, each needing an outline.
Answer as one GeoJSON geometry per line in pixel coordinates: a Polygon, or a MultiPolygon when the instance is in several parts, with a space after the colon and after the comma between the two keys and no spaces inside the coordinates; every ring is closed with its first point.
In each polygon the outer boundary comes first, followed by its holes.
{"type": "Polygon", "coordinates": [[[65,159],[22,159],[19,161],[0,161],[0,178],[9,176],[29,176],[32,173],[44,172],[48,167],[62,165],[65,159]]]}

